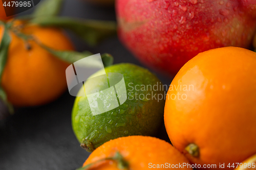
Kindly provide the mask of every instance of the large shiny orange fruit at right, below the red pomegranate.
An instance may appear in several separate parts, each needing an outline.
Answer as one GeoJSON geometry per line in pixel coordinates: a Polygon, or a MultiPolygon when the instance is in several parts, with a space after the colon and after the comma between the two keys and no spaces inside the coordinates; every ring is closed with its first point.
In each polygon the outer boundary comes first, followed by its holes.
{"type": "Polygon", "coordinates": [[[191,163],[230,169],[256,154],[255,68],[256,53],[223,47],[180,69],[166,95],[164,124],[191,163]]]}

